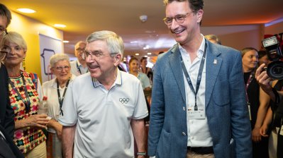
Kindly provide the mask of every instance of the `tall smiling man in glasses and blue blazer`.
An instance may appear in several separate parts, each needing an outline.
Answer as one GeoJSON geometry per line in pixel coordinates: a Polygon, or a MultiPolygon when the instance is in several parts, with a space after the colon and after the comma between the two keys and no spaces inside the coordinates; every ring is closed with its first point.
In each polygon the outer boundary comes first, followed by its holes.
{"type": "Polygon", "coordinates": [[[177,44],[155,65],[148,154],[252,157],[240,52],[201,35],[203,0],[164,2],[177,44]]]}

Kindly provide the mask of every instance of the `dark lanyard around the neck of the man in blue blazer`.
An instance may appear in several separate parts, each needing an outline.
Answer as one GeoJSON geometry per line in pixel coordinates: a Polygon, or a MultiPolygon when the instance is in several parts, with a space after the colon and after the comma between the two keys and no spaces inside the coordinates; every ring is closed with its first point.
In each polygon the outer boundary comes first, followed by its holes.
{"type": "Polygon", "coordinates": [[[181,56],[181,63],[182,63],[184,75],[187,79],[187,82],[189,83],[189,87],[191,88],[192,92],[194,92],[194,111],[198,110],[198,107],[197,107],[197,104],[196,104],[196,95],[197,95],[197,92],[199,92],[199,85],[201,84],[201,75],[202,75],[202,71],[204,71],[204,61],[206,61],[206,48],[207,48],[207,43],[205,41],[204,54],[201,57],[201,65],[199,66],[199,74],[198,74],[197,80],[196,80],[196,90],[194,90],[194,86],[192,85],[192,80],[189,77],[189,73],[187,72],[187,68],[184,65],[184,61],[183,61],[182,56],[181,56]]]}

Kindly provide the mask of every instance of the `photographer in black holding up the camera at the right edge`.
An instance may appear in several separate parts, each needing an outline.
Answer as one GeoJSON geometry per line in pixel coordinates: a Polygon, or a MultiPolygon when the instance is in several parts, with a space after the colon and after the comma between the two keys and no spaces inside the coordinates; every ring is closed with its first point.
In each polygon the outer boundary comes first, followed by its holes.
{"type": "Polygon", "coordinates": [[[282,132],[282,118],[283,118],[283,80],[274,80],[272,85],[270,85],[270,81],[272,79],[267,75],[267,71],[262,71],[265,67],[265,63],[263,63],[257,71],[255,72],[255,78],[257,82],[262,87],[267,95],[270,95],[271,107],[265,116],[265,121],[262,124],[260,129],[260,134],[264,137],[268,136],[267,128],[270,126],[272,128],[272,132],[270,133],[270,142],[269,142],[269,154],[270,157],[283,157],[283,132],[282,132]],[[280,132],[281,131],[281,132],[280,132]]]}

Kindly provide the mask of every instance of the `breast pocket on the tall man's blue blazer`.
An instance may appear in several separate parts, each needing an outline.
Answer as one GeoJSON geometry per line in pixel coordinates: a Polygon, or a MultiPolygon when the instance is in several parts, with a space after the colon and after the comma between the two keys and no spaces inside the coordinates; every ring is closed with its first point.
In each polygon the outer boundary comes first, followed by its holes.
{"type": "Polygon", "coordinates": [[[216,105],[225,106],[230,103],[230,92],[228,85],[228,81],[218,81],[215,83],[212,96],[216,105]]]}

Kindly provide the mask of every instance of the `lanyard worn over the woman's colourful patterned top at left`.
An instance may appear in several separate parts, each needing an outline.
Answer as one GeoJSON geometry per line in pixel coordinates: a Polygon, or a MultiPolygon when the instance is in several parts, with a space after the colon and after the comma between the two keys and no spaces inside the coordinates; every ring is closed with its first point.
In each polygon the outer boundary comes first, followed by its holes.
{"type": "Polygon", "coordinates": [[[23,99],[21,93],[18,92],[18,89],[15,87],[15,85],[13,84],[13,82],[11,81],[10,78],[9,78],[9,83],[12,86],[13,90],[17,93],[18,97],[20,97],[20,99],[23,101],[23,104],[25,104],[25,106],[26,106],[26,113],[28,113],[28,111],[30,111],[30,96],[28,95],[28,90],[26,89],[26,80],[25,80],[25,78],[23,78],[23,73],[22,72],[21,72],[21,78],[23,80],[23,90],[25,91],[26,100],[23,99]]]}

